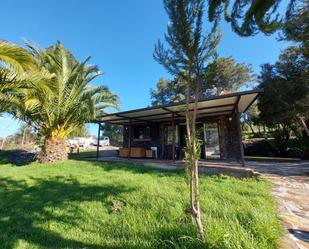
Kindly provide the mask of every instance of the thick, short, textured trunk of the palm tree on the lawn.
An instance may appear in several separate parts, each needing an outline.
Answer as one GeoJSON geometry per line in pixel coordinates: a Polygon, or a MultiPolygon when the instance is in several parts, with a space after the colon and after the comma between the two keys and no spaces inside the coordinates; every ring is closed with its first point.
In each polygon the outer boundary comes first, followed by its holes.
{"type": "Polygon", "coordinates": [[[38,159],[40,163],[52,163],[67,160],[68,153],[64,138],[45,138],[38,159]]]}

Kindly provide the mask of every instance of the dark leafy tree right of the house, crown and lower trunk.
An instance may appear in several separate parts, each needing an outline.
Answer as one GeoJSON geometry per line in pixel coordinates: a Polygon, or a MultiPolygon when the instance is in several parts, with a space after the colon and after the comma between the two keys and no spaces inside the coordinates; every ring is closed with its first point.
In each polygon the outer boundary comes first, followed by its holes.
{"type": "MultiPolygon", "coordinates": [[[[264,64],[260,87],[264,90],[258,101],[260,115],[257,122],[275,128],[275,147],[282,155],[288,154],[291,133],[301,140],[309,124],[309,60],[306,46],[284,50],[274,65],[264,64]]],[[[306,148],[299,148],[305,150],[306,148]]]]}

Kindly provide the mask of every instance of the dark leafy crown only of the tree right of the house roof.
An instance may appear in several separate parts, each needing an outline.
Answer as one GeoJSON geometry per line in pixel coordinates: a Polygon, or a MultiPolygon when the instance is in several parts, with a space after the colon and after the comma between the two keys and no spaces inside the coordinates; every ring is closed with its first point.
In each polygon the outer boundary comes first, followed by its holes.
{"type": "Polygon", "coordinates": [[[289,125],[309,115],[309,61],[299,47],[284,50],[275,65],[264,64],[258,102],[263,122],[289,125]]]}

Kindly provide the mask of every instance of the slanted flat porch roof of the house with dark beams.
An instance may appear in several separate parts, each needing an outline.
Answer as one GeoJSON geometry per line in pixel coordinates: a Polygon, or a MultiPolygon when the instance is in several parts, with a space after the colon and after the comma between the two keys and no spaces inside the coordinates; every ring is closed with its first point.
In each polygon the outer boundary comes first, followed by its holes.
{"type": "MultiPolygon", "coordinates": [[[[197,118],[232,115],[235,111],[243,113],[256,100],[260,92],[262,90],[250,90],[201,99],[198,102],[197,118]]],[[[191,102],[189,108],[193,110],[193,107],[194,102],[191,102]]],[[[122,125],[129,124],[130,122],[131,124],[163,122],[171,120],[173,115],[175,120],[182,120],[185,118],[185,111],[186,103],[179,102],[106,114],[95,122],[122,125]]]]}

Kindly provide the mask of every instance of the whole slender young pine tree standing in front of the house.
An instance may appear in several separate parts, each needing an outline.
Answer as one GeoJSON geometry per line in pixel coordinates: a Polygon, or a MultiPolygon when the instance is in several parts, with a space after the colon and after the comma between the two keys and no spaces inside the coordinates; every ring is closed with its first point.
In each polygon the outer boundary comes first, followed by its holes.
{"type": "Polygon", "coordinates": [[[190,211],[199,237],[205,240],[199,202],[198,160],[200,141],[196,136],[196,115],[201,86],[205,84],[206,63],[215,54],[220,41],[216,26],[204,34],[202,0],[164,0],[169,17],[165,40],[166,48],[159,40],[155,46],[154,59],[172,75],[182,79],[186,86],[186,171],[190,189],[190,211]],[[193,111],[189,104],[194,103],[193,111]]]}

